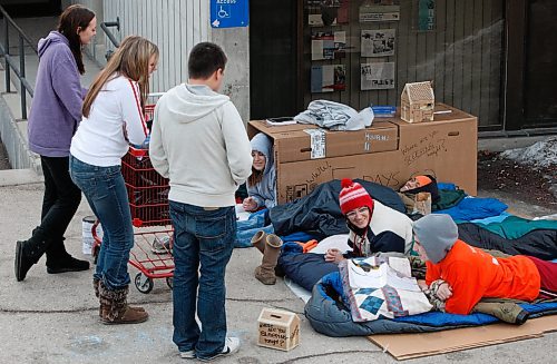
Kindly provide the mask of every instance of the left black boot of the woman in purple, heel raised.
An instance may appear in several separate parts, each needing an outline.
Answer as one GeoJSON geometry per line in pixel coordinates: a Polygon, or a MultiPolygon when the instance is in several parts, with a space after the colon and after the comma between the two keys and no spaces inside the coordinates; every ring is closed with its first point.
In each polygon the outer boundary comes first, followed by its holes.
{"type": "Polygon", "coordinates": [[[50,240],[40,227],[33,229],[33,235],[29,239],[16,243],[14,273],[18,282],[26,278],[29,269],[39,262],[49,244],[50,240]]]}

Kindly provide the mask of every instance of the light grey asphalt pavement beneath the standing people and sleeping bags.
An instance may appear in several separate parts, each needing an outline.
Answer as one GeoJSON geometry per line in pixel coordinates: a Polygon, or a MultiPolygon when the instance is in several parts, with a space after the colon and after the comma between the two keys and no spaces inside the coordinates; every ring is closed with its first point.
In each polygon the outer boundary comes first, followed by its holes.
{"type": "MultiPolygon", "coordinates": [[[[172,295],[164,279],[155,281],[155,288],[147,295],[130,287],[129,302],[146,307],[148,322],[111,326],[98,322],[92,270],[49,275],[42,258],[26,281],[16,282],[16,240],[27,238],[37,225],[41,198],[42,185],[32,174],[0,171],[0,363],[184,363],[172,343],[172,295]]],[[[506,203],[522,216],[550,213],[506,203]]],[[[81,253],[81,218],[87,215],[90,210],[82,201],[66,235],[68,250],[81,258],[87,257],[81,253]]],[[[333,338],[315,333],[303,316],[303,302],[282,279],[264,286],[254,278],[253,269],[260,263],[261,254],[254,248],[233,253],[226,275],[227,321],[229,334],[241,338],[242,347],[222,363],[395,362],[365,337],[333,338]],[[300,315],[299,347],[281,352],[256,345],[256,322],[264,307],[300,315]]],[[[135,273],[130,267],[131,276],[135,273]]],[[[556,347],[557,334],[550,333],[408,363],[554,363],[556,347]]]]}

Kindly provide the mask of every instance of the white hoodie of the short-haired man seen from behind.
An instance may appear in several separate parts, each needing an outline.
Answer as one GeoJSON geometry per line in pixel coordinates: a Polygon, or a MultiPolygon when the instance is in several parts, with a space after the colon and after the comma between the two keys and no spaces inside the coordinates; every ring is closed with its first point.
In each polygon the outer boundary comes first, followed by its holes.
{"type": "Polygon", "coordinates": [[[252,148],[236,107],[207,86],[179,85],[157,102],[149,144],[168,199],[201,207],[235,204],[250,177],[252,148]]]}

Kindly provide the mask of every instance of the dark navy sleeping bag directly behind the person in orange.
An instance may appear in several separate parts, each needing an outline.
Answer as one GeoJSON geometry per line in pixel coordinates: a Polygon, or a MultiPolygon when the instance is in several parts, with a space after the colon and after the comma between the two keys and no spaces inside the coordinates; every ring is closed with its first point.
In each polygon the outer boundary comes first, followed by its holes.
{"type": "Polygon", "coordinates": [[[557,229],[535,229],[516,239],[492,233],[472,223],[458,224],[459,239],[483,249],[509,255],[529,255],[543,260],[557,258],[557,229]]]}

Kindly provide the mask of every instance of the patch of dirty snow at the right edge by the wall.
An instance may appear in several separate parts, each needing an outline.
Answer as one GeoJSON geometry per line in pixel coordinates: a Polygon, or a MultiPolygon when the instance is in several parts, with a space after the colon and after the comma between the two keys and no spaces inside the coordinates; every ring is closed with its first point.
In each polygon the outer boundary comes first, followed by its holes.
{"type": "Polygon", "coordinates": [[[506,150],[500,156],[532,167],[557,166],[557,136],[548,137],[528,148],[506,150]]]}

